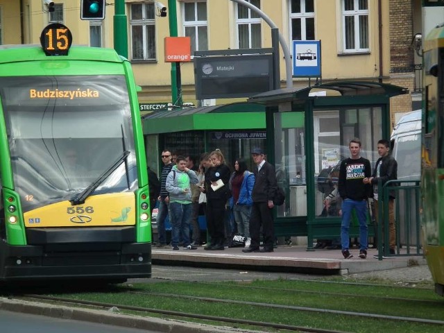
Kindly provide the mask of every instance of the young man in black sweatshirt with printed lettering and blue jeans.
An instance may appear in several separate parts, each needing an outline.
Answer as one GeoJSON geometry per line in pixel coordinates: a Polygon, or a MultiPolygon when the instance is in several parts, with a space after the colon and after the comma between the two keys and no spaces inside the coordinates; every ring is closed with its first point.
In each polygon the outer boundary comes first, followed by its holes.
{"type": "Polygon", "coordinates": [[[338,191],[342,198],[341,248],[345,259],[353,255],[349,251],[350,219],[355,209],[359,221],[359,257],[366,259],[368,246],[367,200],[373,197],[371,185],[364,184],[364,178],[372,174],[370,161],[361,157],[361,141],[352,139],[348,144],[351,157],[341,162],[339,167],[338,191]]]}

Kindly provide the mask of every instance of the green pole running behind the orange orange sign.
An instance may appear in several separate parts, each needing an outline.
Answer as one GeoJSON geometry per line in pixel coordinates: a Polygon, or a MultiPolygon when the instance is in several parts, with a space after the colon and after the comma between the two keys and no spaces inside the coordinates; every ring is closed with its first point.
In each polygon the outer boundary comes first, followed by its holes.
{"type": "MultiPolygon", "coordinates": [[[[170,37],[178,37],[178,11],[176,0],[168,0],[168,22],[170,37]]],[[[180,62],[171,62],[171,99],[173,105],[182,106],[182,84],[180,83],[180,62]]]]}

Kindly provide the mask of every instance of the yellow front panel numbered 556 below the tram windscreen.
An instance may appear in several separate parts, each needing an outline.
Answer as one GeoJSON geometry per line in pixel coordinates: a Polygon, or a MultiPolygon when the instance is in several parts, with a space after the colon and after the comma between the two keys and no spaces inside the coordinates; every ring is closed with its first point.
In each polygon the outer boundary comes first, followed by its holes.
{"type": "Polygon", "coordinates": [[[26,228],[135,225],[135,196],[116,193],[89,196],[81,205],[62,201],[24,214],[26,228]]]}

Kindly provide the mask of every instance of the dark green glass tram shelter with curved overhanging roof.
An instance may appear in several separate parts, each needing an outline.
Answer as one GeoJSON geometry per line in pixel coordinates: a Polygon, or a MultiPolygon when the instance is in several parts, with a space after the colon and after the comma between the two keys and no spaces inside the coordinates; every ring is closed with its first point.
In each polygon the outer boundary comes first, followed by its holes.
{"type": "MultiPolygon", "coordinates": [[[[275,216],[275,234],[307,236],[307,250],[314,239],[339,241],[341,216],[336,196],[330,205],[324,199],[336,194],[339,163],[350,157],[348,144],[361,140],[361,156],[372,168],[379,157],[377,142],[390,139],[390,99],[407,94],[403,87],[373,82],[343,81],[303,89],[276,89],[257,94],[248,103],[265,106],[266,152],[275,164],[278,184],[286,202],[275,216]],[[291,115],[302,117],[296,126],[291,115]]],[[[298,117],[298,118],[300,118],[298,117]]],[[[350,237],[359,236],[352,219],[350,237]]],[[[369,235],[374,234],[368,217],[369,235]]]]}

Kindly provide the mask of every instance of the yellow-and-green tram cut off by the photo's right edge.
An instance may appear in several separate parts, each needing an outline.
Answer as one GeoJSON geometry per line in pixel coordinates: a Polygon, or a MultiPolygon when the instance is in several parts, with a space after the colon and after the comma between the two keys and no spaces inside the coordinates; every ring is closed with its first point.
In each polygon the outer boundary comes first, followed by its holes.
{"type": "Polygon", "coordinates": [[[444,24],[424,43],[421,228],[436,293],[444,296],[444,24]]]}

